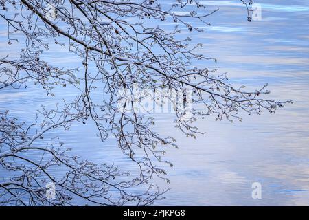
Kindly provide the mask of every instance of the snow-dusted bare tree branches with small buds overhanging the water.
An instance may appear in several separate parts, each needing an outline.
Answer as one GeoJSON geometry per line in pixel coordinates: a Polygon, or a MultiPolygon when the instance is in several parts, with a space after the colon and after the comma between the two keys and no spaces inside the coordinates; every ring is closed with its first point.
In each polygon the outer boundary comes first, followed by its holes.
{"type": "MultiPolygon", "coordinates": [[[[248,20],[251,10],[246,3],[248,20]]],[[[160,164],[172,164],[162,155],[165,146],[177,147],[173,137],[161,137],[153,131],[155,119],[136,109],[147,94],[132,101],[130,112],[122,111],[119,102],[126,97],[122,90],[182,91],[191,89],[192,100],[181,95],[181,102],[192,102],[190,118],[179,105],[175,106],[175,126],[190,137],[202,133],[194,126],[195,120],[215,115],[217,120],[241,120],[239,111],[260,115],[263,109],[274,113],[286,102],[268,100],[266,86],[246,91],[228,83],[225,74],[216,69],[194,66],[194,61],[214,60],[195,49],[190,37],[181,39],[181,27],[189,32],[203,32],[190,24],[192,19],[207,23],[207,17],[217,10],[208,11],[198,1],[178,0],[170,8],[159,1],[145,0],[10,0],[0,1],[0,17],[8,27],[8,44],[18,41],[22,34],[24,47],[19,58],[0,58],[0,89],[19,89],[28,84],[41,86],[48,96],[54,96],[55,87],[73,87],[78,91],[74,102],[47,111],[41,109],[43,121],[34,124],[19,122],[8,111],[1,112],[0,164],[8,177],[0,179],[0,203],[5,205],[47,206],[84,204],[122,206],[149,205],[163,199],[166,190],[148,184],[154,177],[168,181],[160,164]],[[48,6],[54,7],[51,19],[48,6]],[[194,5],[197,11],[177,14],[176,8],[194,5]],[[161,23],[174,22],[168,30],[161,23]],[[42,54],[53,43],[69,46],[69,53],[82,58],[84,69],[52,66],[42,54]],[[63,39],[66,43],[62,43],[63,39]],[[105,96],[97,100],[93,94],[105,96]],[[72,123],[92,121],[102,141],[117,139],[118,147],[139,168],[132,177],[116,165],[94,164],[67,153],[57,137],[42,144],[45,133],[52,129],[68,129],[72,123]],[[32,158],[32,152],[41,155],[32,158]],[[65,170],[56,177],[52,168],[65,170]],[[45,184],[56,184],[56,198],[45,197],[45,184]],[[146,188],[136,194],[132,188],[146,188]]],[[[172,97],[168,96],[171,101],[172,97]]],[[[154,98],[155,99],[155,98],[154,98]]],[[[126,104],[125,104],[126,105],[126,104]]],[[[123,106],[126,108],[128,106],[123,106]]],[[[9,110],[9,109],[8,109],[9,110]]],[[[162,165],[163,165],[162,164],[162,165]]],[[[4,171],[3,171],[4,172],[4,171]]]]}

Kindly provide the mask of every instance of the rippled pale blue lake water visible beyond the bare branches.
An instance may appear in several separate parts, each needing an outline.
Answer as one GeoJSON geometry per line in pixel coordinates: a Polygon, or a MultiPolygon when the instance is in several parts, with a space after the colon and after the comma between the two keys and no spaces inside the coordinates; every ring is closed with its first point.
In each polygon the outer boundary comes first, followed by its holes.
{"type": "MultiPolygon", "coordinates": [[[[168,4],[172,1],[163,1],[168,4]]],[[[203,43],[201,53],[218,63],[198,63],[228,72],[231,83],[249,88],[268,83],[269,98],[294,100],[275,115],[244,115],[243,122],[216,122],[210,117],[196,123],[205,135],[196,140],[174,129],[172,115],[156,115],[156,130],[176,137],[179,149],[165,156],[173,164],[168,168],[171,188],[166,199],[156,205],[185,206],[309,206],[309,1],[255,1],[262,5],[262,20],[247,22],[240,1],[203,1],[209,9],[220,8],[209,17],[213,26],[204,33],[190,32],[192,43],[203,43]],[[262,199],[252,199],[251,185],[262,184],[262,199]]],[[[179,10],[180,12],[181,10],[179,10]]],[[[185,13],[185,12],[181,12],[185,13]]],[[[8,54],[3,21],[0,21],[0,57],[8,54]]],[[[165,25],[173,27],[174,24],[165,25]]],[[[182,34],[188,34],[183,28],[182,34]]],[[[12,45],[9,54],[19,54],[12,45]]],[[[50,62],[62,66],[80,66],[66,50],[51,48],[50,62]]],[[[37,87],[0,90],[0,109],[9,109],[21,120],[34,120],[41,104],[53,108],[63,98],[75,94],[61,90],[57,98],[46,98],[37,87]]],[[[127,160],[114,140],[104,143],[96,137],[91,124],[78,124],[67,133],[56,133],[73,152],[97,162],[127,160]]],[[[35,155],[34,155],[35,156],[35,155]]]]}

